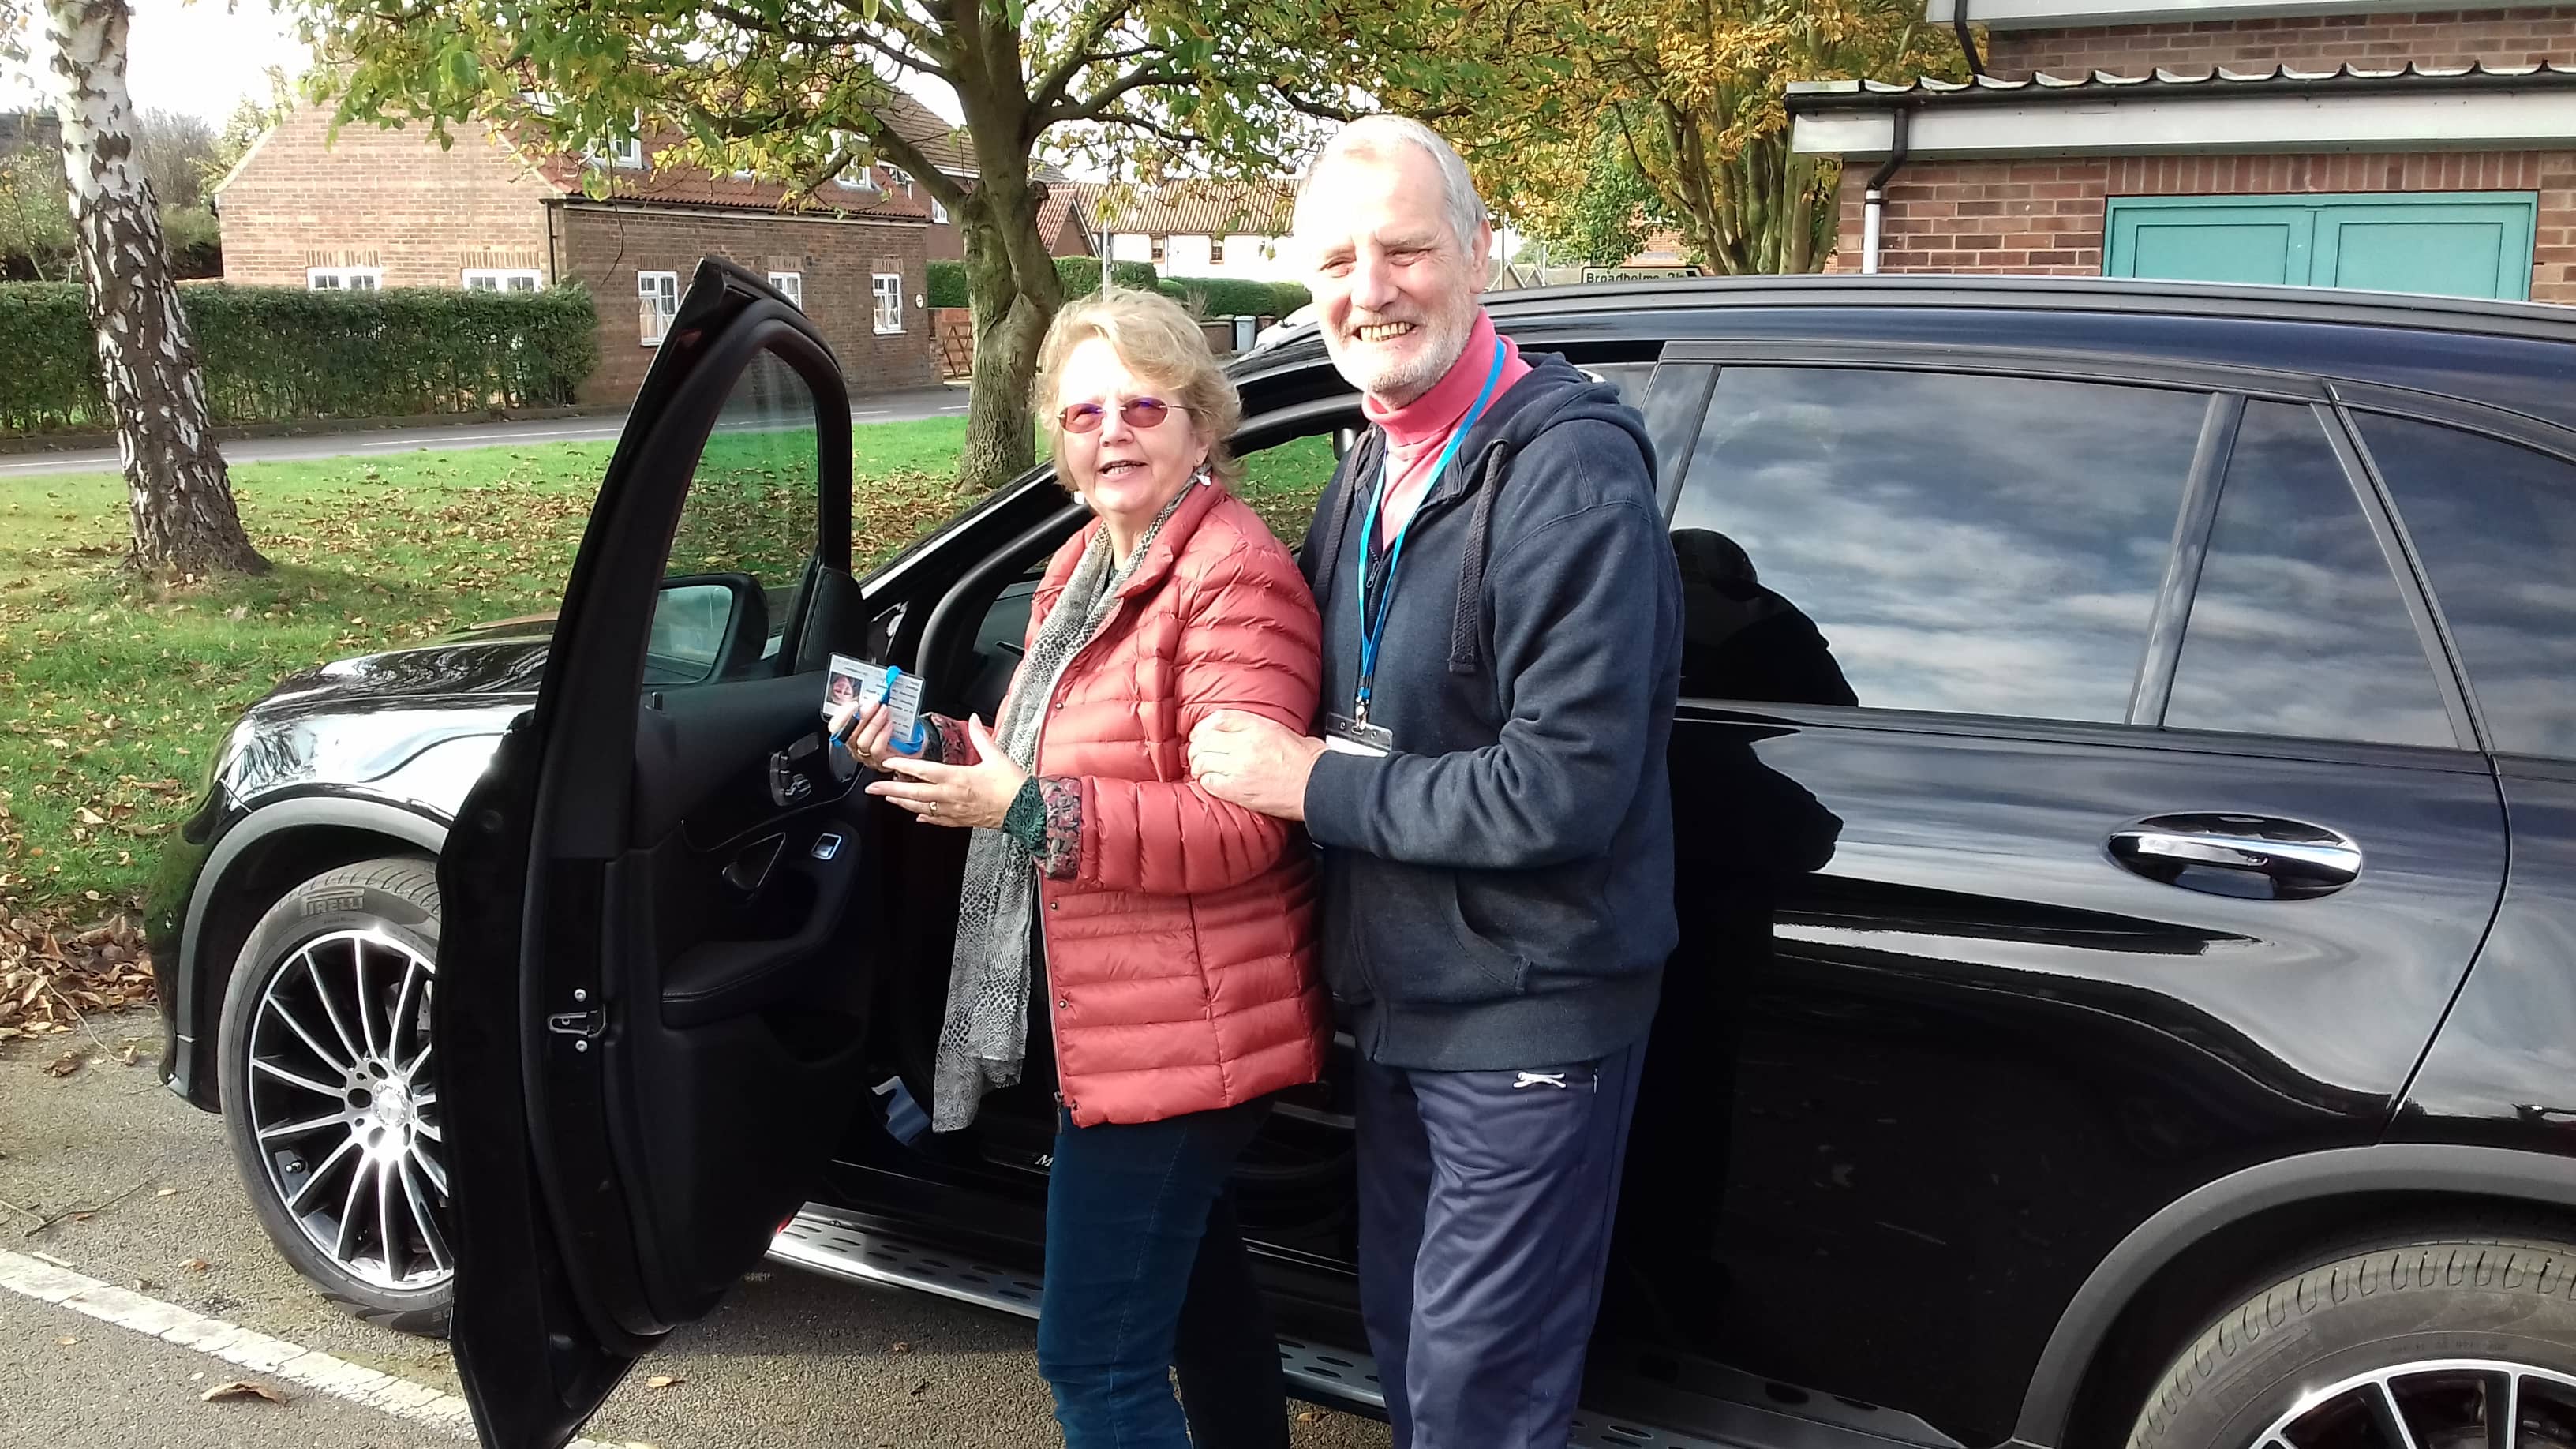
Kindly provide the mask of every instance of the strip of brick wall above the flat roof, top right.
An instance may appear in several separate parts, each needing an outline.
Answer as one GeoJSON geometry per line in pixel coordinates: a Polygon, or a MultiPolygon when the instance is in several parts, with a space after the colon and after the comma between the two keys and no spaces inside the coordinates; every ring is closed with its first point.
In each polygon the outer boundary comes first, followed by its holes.
{"type": "Polygon", "coordinates": [[[2004,77],[2030,72],[2148,75],[2156,67],[2205,75],[2213,67],[2393,70],[2421,64],[2576,64],[2576,5],[2530,10],[2421,10],[2393,15],[2287,15],[2264,21],[2172,21],[2074,31],[1994,31],[1986,64],[2004,77]]]}

